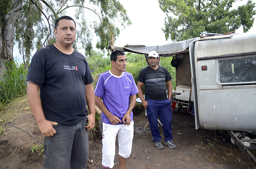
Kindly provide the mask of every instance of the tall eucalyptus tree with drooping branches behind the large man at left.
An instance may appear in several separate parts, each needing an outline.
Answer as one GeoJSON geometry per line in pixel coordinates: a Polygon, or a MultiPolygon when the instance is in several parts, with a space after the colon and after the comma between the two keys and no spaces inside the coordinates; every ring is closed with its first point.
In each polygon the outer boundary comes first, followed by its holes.
{"type": "Polygon", "coordinates": [[[70,15],[77,22],[74,48],[86,55],[96,48],[105,51],[120,34],[120,28],[131,24],[126,10],[118,0],[4,0],[0,2],[0,74],[6,70],[5,61],[13,60],[13,45],[17,44],[26,66],[33,49],[55,42],[54,22],[70,15]]]}

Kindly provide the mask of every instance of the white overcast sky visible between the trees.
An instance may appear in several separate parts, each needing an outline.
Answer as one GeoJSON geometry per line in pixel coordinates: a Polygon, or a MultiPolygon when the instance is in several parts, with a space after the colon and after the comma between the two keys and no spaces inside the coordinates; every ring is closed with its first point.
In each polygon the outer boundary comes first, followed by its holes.
{"type": "MultiPolygon", "coordinates": [[[[165,35],[162,31],[162,28],[164,28],[166,14],[160,9],[158,0],[119,1],[127,10],[127,14],[132,22],[132,25],[126,27],[125,30],[121,30],[119,37],[117,37],[117,40],[114,42],[115,46],[122,47],[126,44],[156,46],[172,43],[171,40],[165,40],[165,35]]],[[[256,2],[256,0],[253,1],[256,2]]],[[[238,5],[243,5],[246,2],[247,0],[239,1],[238,5]]],[[[239,30],[235,32],[243,33],[243,29],[239,28],[239,30]]],[[[249,32],[256,32],[256,20],[249,32]]],[[[97,38],[95,38],[93,43],[94,49],[96,49],[96,40],[97,38]]],[[[14,59],[20,62],[22,61],[22,57],[19,56],[18,49],[15,49],[15,47],[13,56],[14,59]]]]}

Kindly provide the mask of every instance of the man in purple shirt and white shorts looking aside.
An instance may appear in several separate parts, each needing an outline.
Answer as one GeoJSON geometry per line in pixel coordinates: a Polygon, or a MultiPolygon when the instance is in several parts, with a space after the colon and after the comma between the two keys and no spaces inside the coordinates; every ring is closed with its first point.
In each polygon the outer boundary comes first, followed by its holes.
{"type": "Polygon", "coordinates": [[[133,75],[126,72],[125,53],[116,50],[110,59],[112,69],[99,75],[94,90],[96,105],[103,112],[101,165],[103,168],[113,168],[118,134],[119,168],[124,169],[131,154],[134,131],[132,110],[139,90],[133,75]]]}

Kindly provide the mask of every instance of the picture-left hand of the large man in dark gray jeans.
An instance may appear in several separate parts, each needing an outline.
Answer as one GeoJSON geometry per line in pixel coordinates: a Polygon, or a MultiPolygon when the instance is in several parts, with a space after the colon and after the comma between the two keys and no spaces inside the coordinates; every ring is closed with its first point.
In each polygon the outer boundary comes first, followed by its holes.
{"type": "Polygon", "coordinates": [[[58,123],[55,121],[43,120],[42,122],[37,123],[39,126],[40,132],[44,137],[52,137],[56,134],[56,130],[52,125],[57,125],[58,123]]]}

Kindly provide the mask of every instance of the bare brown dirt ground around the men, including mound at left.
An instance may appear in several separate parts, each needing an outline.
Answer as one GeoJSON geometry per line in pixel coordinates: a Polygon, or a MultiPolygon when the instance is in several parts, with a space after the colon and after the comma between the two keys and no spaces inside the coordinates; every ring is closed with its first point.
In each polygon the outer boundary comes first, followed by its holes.
{"type": "MultiPolygon", "coordinates": [[[[196,130],[194,116],[188,113],[173,112],[172,132],[176,148],[171,149],[163,144],[164,149],[157,150],[152,142],[149,126],[146,132],[143,131],[148,122],[144,111],[134,114],[133,150],[126,163],[127,169],[255,168],[239,148],[231,144],[230,136],[226,132],[201,128],[196,130]]],[[[43,136],[32,113],[21,114],[8,124],[13,126],[5,125],[5,133],[0,135],[1,168],[42,169],[44,155],[36,145],[43,143],[43,136]]],[[[160,125],[159,128],[163,143],[162,126],[160,125]]],[[[97,132],[90,133],[89,148],[86,169],[101,169],[102,144],[97,132]]],[[[118,144],[116,143],[114,169],[118,169],[118,163],[118,144]]]]}

